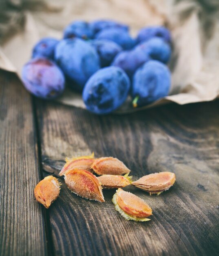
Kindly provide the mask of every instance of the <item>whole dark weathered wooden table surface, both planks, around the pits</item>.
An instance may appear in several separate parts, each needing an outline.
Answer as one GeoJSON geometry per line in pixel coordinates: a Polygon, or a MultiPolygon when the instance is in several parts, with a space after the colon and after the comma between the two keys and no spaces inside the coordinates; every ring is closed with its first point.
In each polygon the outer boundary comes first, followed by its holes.
{"type": "Polygon", "coordinates": [[[35,99],[3,71],[0,98],[1,256],[219,255],[219,101],[95,116],[35,99]],[[118,157],[134,179],[176,173],[159,196],[127,187],[153,208],[149,222],[122,218],[115,190],[99,203],[71,193],[64,180],[48,210],[35,201],[35,185],[57,174],[65,156],[92,151],[118,157]]]}

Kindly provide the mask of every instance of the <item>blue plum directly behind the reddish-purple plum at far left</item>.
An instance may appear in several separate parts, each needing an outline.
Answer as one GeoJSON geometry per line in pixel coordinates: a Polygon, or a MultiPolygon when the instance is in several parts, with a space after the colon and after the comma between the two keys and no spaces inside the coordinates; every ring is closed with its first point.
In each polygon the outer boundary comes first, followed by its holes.
{"type": "Polygon", "coordinates": [[[53,59],[55,47],[59,40],[52,37],[42,38],[34,47],[32,52],[32,58],[45,57],[53,59]]]}

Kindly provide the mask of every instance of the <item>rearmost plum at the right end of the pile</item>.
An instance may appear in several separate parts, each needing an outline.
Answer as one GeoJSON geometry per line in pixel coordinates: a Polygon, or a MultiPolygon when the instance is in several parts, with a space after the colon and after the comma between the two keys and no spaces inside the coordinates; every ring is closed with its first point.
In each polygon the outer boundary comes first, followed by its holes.
{"type": "Polygon", "coordinates": [[[139,30],[137,34],[137,43],[142,43],[153,37],[162,38],[168,43],[171,42],[171,35],[169,29],[163,26],[150,26],[144,27],[139,30]]]}

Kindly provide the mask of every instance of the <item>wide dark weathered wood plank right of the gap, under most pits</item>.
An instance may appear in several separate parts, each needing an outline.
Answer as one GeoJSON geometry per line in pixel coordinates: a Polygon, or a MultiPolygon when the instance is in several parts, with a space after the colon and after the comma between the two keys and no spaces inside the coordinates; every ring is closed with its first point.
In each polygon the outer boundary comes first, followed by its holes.
{"type": "Polygon", "coordinates": [[[55,255],[217,255],[219,252],[219,101],[170,105],[132,115],[95,116],[38,101],[44,166],[58,172],[65,156],[113,156],[134,178],[173,171],[169,191],[149,196],[126,189],[153,208],[150,222],[126,221],[105,203],[84,200],[62,181],[49,209],[55,255]]]}

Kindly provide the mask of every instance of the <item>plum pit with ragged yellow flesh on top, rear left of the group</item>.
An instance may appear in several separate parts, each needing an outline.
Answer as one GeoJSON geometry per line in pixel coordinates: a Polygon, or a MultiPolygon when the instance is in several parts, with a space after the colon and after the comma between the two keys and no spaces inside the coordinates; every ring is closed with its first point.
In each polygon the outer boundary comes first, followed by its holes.
{"type": "Polygon", "coordinates": [[[91,155],[86,155],[82,157],[72,157],[70,159],[65,159],[66,164],[63,166],[62,170],[60,171],[59,175],[62,176],[66,171],[72,170],[74,168],[83,169],[93,173],[93,169],[91,169],[91,165],[94,161],[94,153],[91,155]]]}

